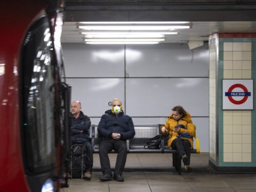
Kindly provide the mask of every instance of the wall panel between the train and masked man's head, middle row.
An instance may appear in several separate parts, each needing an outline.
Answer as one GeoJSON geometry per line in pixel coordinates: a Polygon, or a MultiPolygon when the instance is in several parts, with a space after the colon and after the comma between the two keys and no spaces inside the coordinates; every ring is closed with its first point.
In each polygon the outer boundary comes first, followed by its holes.
{"type": "Polygon", "coordinates": [[[114,98],[124,101],[124,79],[67,79],[72,86],[71,101],[79,100],[85,115],[100,117],[114,98]]]}

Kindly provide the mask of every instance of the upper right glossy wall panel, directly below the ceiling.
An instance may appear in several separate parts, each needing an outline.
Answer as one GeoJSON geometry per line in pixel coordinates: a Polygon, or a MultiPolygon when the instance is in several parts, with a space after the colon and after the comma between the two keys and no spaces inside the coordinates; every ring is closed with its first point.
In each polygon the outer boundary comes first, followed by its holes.
{"type": "Polygon", "coordinates": [[[208,77],[208,44],[126,46],[126,77],[208,77]]]}

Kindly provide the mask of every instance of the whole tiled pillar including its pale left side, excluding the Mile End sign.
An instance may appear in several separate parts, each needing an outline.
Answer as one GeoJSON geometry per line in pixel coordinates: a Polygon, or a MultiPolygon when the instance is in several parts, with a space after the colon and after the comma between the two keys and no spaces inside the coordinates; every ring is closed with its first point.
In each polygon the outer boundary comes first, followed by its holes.
{"type": "MultiPolygon", "coordinates": [[[[210,161],[216,166],[256,165],[255,110],[222,110],[222,79],[256,77],[255,34],[238,36],[215,34],[209,38],[210,161]]],[[[255,101],[254,96],[254,105],[255,101]]]]}

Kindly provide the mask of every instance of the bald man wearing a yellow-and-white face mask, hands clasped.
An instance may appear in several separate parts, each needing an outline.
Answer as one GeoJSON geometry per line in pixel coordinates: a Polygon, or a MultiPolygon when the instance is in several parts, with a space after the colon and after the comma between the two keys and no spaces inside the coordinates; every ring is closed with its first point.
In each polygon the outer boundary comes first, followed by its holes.
{"type": "Polygon", "coordinates": [[[99,122],[98,132],[102,138],[99,144],[99,160],[103,173],[100,180],[102,182],[112,179],[119,182],[124,181],[122,174],[127,157],[126,140],[134,137],[135,130],[132,118],[128,115],[124,115],[122,107],[122,102],[119,99],[113,99],[111,110],[107,110],[105,114],[101,116],[101,121],[99,122]],[[108,152],[113,149],[118,152],[114,177],[112,176],[108,158],[108,152]]]}

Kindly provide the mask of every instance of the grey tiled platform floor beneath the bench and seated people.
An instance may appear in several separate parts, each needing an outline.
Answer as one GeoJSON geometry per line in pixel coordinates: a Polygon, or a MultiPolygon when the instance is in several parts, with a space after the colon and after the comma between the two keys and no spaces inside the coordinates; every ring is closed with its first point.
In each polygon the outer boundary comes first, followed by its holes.
{"type": "MultiPolygon", "coordinates": [[[[110,154],[111,166],[116,154],[110,154]]],[[[101,182],[99,155],[94,154],[93,178],[71,179],[63,192],[252,192],[256,191],[256,174],[215,174],[208,167],[208,154],[191,154],[193,172],[182,175],[172,168],[172,154],[128,154],[124,182],[101,182]],[[156,171],[157,170],[157,171],[156,171]]]]}

